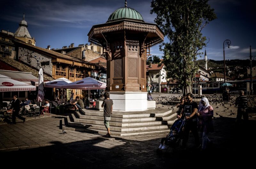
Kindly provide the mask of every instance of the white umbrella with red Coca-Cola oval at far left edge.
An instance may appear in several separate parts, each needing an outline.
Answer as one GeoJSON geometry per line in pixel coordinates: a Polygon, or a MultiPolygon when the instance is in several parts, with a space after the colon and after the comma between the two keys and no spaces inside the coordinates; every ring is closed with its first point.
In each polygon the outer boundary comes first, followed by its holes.
{"type": "Polygon", "coordinates": [[[10,77],[0,75],[0,92],[35,91],[36,86],[13,80],[10,77]]]}

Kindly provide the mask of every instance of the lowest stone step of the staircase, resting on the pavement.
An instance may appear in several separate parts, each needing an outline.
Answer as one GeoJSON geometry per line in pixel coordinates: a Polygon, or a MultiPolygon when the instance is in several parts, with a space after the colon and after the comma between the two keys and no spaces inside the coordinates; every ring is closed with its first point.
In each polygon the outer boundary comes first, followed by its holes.
{"type": "MultiPolygon", "coordinates": [[[[62,126],[63,130],[70,130],[70,131],[78,131],[78,132],[86,132],[86,133],[97,133],[106,135],[107,130],[99,130],[99,129],[86,129],[86,128],[80,128],[80,127],[70,127],[70,126],[62,126]]],[[[141,135],[141,134],[150,134],[152,133],[160,133],[160,134],[168,134],[170,129],[151,129],[151,130],[139,130],[139,131],[127,131],[127,132],[116,132],[111,131],[110,132],[112,136],[131,136],[131,135],[141,135]]]]}

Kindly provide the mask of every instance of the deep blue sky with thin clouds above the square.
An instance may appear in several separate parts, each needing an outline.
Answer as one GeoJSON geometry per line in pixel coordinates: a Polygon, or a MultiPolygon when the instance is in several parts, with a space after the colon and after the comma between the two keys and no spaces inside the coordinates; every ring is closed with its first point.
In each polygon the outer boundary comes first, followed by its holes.
{"type": "MultiPolygon", "coordinates": [[[[151,0],[127,0],[130,8],[139,11],[144,21],[154,23],[150,14],[151,0]]],[[[36,39],[36,46],[62,48],[71,43],[88,43],[88,32],[93,25],[105,23],[109,15],[124,7],[124,0],[0,0],[0,29],[15,32],[25,13],[28,31],[36,39]]],[[[203,35],[210,39],[206,47],[207,58],[223,60],[223,42],[226,59],[247,59],[256,55],[256,2],[254,0],[209,0],[217,19],[208,24],[203,35]]],[[[165,38],[167,40],[167,38],[165,38]]],[[[204,49],[203,49],[204,51],[204,49]]],[[[151,54],[163,56],[159,47],[151,54]]],[[[200,58],[200,57],[198,57],[200,58]]]]}

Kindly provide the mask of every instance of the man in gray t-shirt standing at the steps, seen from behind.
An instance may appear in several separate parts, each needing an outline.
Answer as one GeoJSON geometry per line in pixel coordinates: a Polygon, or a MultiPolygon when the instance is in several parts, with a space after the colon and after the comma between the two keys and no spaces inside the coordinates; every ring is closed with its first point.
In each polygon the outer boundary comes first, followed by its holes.
{"type": "Polygon", "coordinates": [[[103,100],[101,107],[104,107],[104,124],[106,129],[108,130],[106,137],[110,137],[109,121],[113,110],[113,100],[109,99],[108,92],[104,93],[104,97],[105,99],[103,100]]]}

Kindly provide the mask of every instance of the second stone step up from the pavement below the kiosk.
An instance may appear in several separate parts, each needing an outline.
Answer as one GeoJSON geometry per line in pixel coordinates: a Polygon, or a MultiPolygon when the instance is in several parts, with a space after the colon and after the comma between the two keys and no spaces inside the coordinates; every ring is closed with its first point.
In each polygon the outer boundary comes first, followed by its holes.
{"type": "MultiPolygon", "coordinates": [[[[100,129],[100,130],[106,130],[104,125],[99,124],[85,124],[85,123],[79,123],[79,122],[72,122],[70,120],[70,117],[67,116],[68,120],[68,126],[75,126],[75,127],[81,127],[81,128],[90,128],[90,129],[100,129]]],[[[73,120],[73,119],[72,119],[73,120]]],[[[124,131],[137,131],[137,130],[150,130],[150,129],[167,129],[168,125],[163,124],[155,124],[155,125],[143,125],[143,126],[127,126],[127,127],[117,127],[113,126],[111,127],[112,131],[117,132],[124,132],[124,131]]]]}

